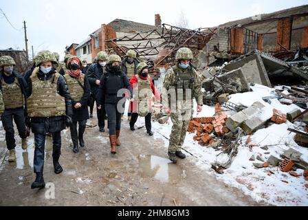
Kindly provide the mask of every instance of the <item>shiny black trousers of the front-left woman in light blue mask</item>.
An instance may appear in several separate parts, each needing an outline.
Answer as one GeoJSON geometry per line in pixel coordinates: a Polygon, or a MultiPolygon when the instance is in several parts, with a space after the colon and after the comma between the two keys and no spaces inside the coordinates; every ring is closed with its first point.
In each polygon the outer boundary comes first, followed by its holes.
{"type": "MultiPolygon", "coordinates": [[[[45,162],[45,134],[34,133],[34,173],[43,173],[45,162]]],[[[52,158],[59,159],[61,155],[61,131],[52,133],[52,158]]]]}

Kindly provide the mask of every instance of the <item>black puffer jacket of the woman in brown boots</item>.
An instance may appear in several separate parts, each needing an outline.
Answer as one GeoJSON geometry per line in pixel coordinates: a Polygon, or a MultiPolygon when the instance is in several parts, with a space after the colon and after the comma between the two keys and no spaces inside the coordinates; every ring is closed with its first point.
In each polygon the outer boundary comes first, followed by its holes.
{"type": "MultiPolygon", "coordinates": [[[[109,69],[109,68],[108,68],[109,69]]],[[[100,79],[100,87],[98,89],[98,105],[108,103],[116,104],[125,95],[118,97],[118,91],[120,89],[128,89],[130,97],[133,98],[133,90],[126,74],[122,71],[113,72],[110,69],[100,79]]]]}

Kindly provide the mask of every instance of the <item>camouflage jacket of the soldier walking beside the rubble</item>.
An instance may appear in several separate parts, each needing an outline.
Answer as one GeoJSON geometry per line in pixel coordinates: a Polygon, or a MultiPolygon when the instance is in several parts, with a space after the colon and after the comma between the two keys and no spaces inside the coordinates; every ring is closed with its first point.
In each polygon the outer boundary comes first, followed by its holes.
{"type": "MultiPolygon", "coordinates": [[[[188,67],[188,68],[192,68],[192,67],[188,67]]],[[[193,74],[194,82],[192,83],[192,91],[191,91],[192,98],[196,99],[197,104],[202,105],[203,95],[201,91],[201,87],[202,87],[201,78],[198,76],[195,69],[192,69],[192,70],[194,73],[193,74]]],[[[172,67],[168,69],[168,71],[166,72],[163,86],[164,86],[164,91],[162,92],[162,104],[164,107],[170,108],[170,104],[169,104],[170,100],[168,99],[168,91],[170,91],[169,89],[175,89],[176,87],[176,74],[172,67]]],[[[179,102],[179,100],[177,100],[177,102],[179,102]]],[[[177,106],[179,107],[179,103],[177,103],[177,106]]],[[[189,105],[189,108],[191,108],[191,105],[189,105]]]]}

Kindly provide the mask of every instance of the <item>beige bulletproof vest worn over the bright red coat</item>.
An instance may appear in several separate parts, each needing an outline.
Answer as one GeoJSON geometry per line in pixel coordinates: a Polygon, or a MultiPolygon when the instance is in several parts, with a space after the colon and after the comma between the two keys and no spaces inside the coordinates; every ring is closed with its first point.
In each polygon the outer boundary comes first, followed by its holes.
{"type": "Polygon", "coordinates": [[[141,117],[145,117],[151,111],[151,81],[149,76],[146,80],[140,78],[139,75],[136,76],[138,81],[138,115],[140,115],[141,117]]]}

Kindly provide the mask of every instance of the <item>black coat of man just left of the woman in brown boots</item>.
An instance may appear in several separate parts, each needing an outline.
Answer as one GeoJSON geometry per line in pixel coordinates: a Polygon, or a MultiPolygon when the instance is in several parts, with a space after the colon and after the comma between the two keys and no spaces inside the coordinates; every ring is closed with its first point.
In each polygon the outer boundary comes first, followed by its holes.
{"type": "Polygon", "coordinates": [[[86,76],[89,80],[89,84],[91,87],[91,93],[94,94],[94,97],[97,98],[98,94],[98,87],[99,85],[96,85],[96,80],[100,80],[102,78],[102,75],[104,74],[104,70],[102,69],[102,66],[98,63],[94,63],[90,65],[89,69],[87,70],[86,76]]]}

